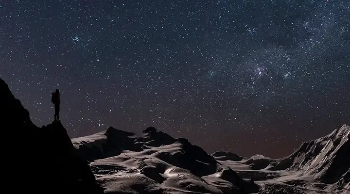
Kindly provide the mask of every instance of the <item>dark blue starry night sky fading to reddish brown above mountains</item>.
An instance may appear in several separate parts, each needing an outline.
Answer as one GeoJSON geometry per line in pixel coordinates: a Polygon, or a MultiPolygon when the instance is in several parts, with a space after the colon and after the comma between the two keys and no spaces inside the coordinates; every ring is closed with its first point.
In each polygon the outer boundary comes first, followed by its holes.
{"type": "Polygon", "coordinates": [[[350,124],[349,0],[1,0],[0,77],[71,138],[153,126],[289,155],[350,124]]]}

